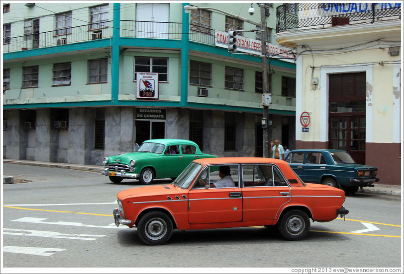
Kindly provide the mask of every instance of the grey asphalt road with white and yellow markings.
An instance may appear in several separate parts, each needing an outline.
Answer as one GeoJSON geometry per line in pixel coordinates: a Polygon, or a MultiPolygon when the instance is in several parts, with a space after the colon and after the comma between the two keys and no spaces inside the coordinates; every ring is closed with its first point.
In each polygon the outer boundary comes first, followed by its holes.
{"type": "Polygon", "coordinates": [[[2,186],[3,268],[403,267],[397,196],[348,196],[345,220],[311,223],[302,241],[246,227],[174,231],[167,244],[146,246],[112,217],[116,194],[140,187],[136,180],[112,184],[99,173],[18,164],[3,164],[3,174],[14,177],[2,186]]]}

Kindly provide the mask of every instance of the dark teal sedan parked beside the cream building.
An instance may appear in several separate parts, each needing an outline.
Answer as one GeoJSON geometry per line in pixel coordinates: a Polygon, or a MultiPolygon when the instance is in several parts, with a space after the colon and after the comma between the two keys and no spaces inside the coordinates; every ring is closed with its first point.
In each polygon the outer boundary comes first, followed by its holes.
{"type": "Polygon", "coordinates": [[[355,163],[339,149],[295,149],[285,159],[305,183],[323,184],[353,194],[359,187],[374,187],[378,169],[355,163]]]}

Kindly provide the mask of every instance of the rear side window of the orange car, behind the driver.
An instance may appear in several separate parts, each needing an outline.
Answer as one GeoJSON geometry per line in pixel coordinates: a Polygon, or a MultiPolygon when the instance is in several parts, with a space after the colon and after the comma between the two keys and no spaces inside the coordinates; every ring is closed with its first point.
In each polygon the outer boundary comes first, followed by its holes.
{"type": "Polygon", "coordinates": [[[282,172],[272,165],[243,165],[244,187],[288,186],[282,172]]]}

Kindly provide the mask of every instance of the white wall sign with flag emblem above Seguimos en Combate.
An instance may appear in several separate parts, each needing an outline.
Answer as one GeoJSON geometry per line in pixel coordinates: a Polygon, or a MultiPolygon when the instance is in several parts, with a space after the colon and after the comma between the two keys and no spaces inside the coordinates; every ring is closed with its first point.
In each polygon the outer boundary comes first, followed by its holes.
{"type": "Polygon", "coordinates": [[[159,98],[159,73],[136,72],[136,98],[137,99],[159,98]]]}

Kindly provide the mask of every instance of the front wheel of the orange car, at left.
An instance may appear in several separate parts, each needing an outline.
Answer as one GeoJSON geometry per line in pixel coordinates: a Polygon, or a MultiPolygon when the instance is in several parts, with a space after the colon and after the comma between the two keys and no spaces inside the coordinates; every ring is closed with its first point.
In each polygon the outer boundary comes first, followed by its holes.
{"type": "Polygon", "coordinates": [[[137,235],[148,245],[161,245],[173,233],[173,222],[164,212],[150,211],[142,216],[137,224],[137,235]]]}

